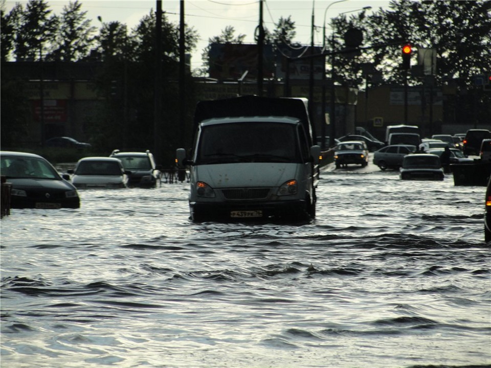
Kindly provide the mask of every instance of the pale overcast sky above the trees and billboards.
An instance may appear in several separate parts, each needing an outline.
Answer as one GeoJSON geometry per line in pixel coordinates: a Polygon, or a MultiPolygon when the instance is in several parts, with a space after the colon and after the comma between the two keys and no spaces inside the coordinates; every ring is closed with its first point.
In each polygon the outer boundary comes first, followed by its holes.
{"type": "MultiPolygon", "coordinates": [[[[103,22],[119,21],[129,28],[137,26],[139,21],[150,11],[155,11],[157,1],[147,0],[82,0],[82,11],[86,11],[87,18],[92,20],[92,26],[100,26],[98,16],[103,22]]],[[[25,6],[27,1],[6,1],[6,10],[20,3],[25,6]]],[[[69,1],[48,1],[50,9],[59,14],[69,1]]],[[[295,22],[295,41],[301,44],[310,44],[312,32],[312,18],[314,13],[314,43],[322,44],[324,27],[324,15],[326,19],[326,34],[330,33],[329,19],[343,12],[359,10],[371,6],[367,10],[370,14],[379,8],[386,8],[389,0],[265,0],[263,2],[263,21],[267,29],[273,30],[274,24],[280,17],[291,19],[295,22]]],[[[255,43],[254,31],[259,24],[258,0],[185,0],[185,22],[193,27],[199,41],[191,56],[191,68],[202,66],[201,54],[208,45],[208,39],[218,36],[227,26],[235,28],[235,35],[245,34],[244,43],[255,43]]],[[[162,11],[167,13],[168,19],[178,25],[180,21],[180,1],[162,1],[162,11]]],[[[353,12],[352,14],[355,14],[353,12]]],[[[349,14],[351,15],[351,14],[349,14]]]]}

